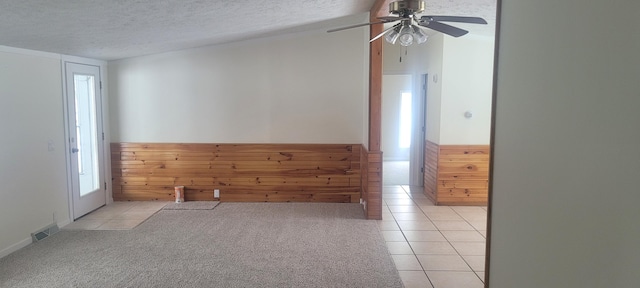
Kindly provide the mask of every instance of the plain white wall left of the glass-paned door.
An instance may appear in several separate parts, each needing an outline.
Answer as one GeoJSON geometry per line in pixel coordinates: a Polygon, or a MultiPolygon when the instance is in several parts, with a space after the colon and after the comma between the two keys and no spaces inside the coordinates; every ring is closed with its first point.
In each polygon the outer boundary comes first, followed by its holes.
{"type": "Polygon", "coordinates": [[[2,257],[69,222],[60,56],[0,46],[0,98],[2,257]]]}

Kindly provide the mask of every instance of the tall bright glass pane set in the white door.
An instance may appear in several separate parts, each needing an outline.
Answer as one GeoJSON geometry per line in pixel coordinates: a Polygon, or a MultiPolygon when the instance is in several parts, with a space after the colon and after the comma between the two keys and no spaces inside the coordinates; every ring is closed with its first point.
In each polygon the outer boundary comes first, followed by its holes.
{"type": "Polygon", "coordinates": [[[96,129],[95,77],[73,75],[78,139],[78,173],[80,196],[100,188],[98,178],[98,131],[96,129]]]}

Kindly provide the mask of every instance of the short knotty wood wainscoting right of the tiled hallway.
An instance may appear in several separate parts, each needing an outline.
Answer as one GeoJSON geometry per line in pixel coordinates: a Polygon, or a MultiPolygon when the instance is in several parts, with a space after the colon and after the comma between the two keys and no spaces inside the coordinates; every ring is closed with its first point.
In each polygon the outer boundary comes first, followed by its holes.
{"type": "Polygon", "coordinates": [[[424,193],[436,205],[487,205],[489,145],[426,141],[424,193]]]}

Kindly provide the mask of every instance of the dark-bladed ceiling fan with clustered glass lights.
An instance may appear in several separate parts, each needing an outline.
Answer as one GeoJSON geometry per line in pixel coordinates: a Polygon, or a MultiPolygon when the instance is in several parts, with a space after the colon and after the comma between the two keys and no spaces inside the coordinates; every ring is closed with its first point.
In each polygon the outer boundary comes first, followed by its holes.
{"type": "Polygon", "coordinates": [[[384,30],[378,36],[373,37],[369,42],[373,42],[376,39],[384,36],[385,40],[391,44],[400,42],[402,46],[409,46],[414,42],[418,44],[427,41],[427,34],[422,30],[422,27],[426,27],[453,37],[460,37],[469,33],[469,31],[454,27],[444,22],[459,22],[459,23],[472,23],[472,24],[487,24],[487,21],[480,17],[467,17],[467,16],[422,16],[418,18],[416,13],[424,12],[426,7],[425,1],[419,0],[400,0],[391,2],[389,4],[390,16],[378,17],[380,21],[356,24],[336,29],[331,29],[327,32],[336,32],[345,29],[351,29],[366,25],[384,24],[400,21],[392,27],[384,30]],[[414,24],[417,23],[418,25],[414,24]]]}

